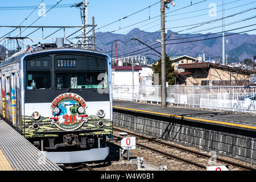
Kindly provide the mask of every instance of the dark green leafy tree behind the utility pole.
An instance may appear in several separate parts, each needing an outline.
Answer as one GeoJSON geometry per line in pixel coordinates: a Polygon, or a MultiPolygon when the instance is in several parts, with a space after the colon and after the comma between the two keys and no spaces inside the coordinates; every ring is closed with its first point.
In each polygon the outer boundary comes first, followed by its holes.
{"type": "MultiPolygon", "coordinates": [[[[175,84],[175,76],[174,73],[176,73],[174,69],[174,65],[172,65],[174,61],[170,59],[169,56],[166,55],[166,81],[168,82],[168,85],[174,85],[175,84]]],[[[162,77],[161,77],[161,59],[158,60],[156,64],[152,64],[153,74],[159,74],[159,85],[162,84],[162,77]]],[[[154,76],[152,76],[154,80],[154,76]]]]}

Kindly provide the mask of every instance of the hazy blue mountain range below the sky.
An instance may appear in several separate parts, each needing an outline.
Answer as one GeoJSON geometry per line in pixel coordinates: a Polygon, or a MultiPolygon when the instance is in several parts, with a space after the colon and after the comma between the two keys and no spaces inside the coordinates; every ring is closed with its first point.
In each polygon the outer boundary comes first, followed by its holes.
{"type": "MultiPolygon", "coordinates": [[[[189,42],[192,40],[200,40],[213,38],[215,36],[222,36],[222,34],[174,34],[171,30],[168,30],[166,39],[175,39],[166,41],[166,53],[168,56],[188,55],[197,57],[205,54],[205,59],[222,59],[222,38],[201,40],[197,42],[189,42]],[[190,38],[199,36],[197,38],[190,38]],[[179,40],[177,40],[179,39],[179,40]],[[189,43],[180,43],[189,42],[189,43]],[[168,44],[176,43],[176,44],[168,44]]],[[[232,34],[226,33],[225,35],[232,34]]],[[[155,48],[160,52],[160,43],[155,41],[160,40],[160,31],[158,32],[146,32],[134,28],[127,34],[113,34],[112,32],[97,32],[96,44],[98,48],[101,48],[104,52],[110,56],[115,57],[115,44],[117,43],[118,57],[125,57],[138,53],[138,55],[151,56],[154,59],[159,59],[158,53],[153,50],[143,52],[149,48],[143,46],[136,40],[127,42],[131,38],[137,38],[141,42],[146,43],[148,46],[155,48]],[[118,42],[116,40],[121,40],[118,42]],[[127,43],[125,43],[127,42],[127,43]],[[143,49],[144,48],[144,49],[143,49]],[[151,55],[150,55],[151,54],[151,55]]],[[[229,62],[236,62],[238,59],[243,61],[244,59],[253,59],[256,55],[256,35],[249,34],[237,34],[225,37],[225,52],[228,52],[229,62]]]]}

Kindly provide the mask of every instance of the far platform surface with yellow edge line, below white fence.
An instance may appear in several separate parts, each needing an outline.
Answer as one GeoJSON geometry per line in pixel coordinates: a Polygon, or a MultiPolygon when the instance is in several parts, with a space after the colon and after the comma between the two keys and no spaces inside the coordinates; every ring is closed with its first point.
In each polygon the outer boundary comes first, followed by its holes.
{"type": "Polygon", "coordinates": [[[175,106],[161,107],[159,105],[116,100],[113,101],[113,109],[182,119],[183,121],[200,122],[209,125],[256,131],[255,114],[235,114],[227,111],[187,109],[175,106]]]}

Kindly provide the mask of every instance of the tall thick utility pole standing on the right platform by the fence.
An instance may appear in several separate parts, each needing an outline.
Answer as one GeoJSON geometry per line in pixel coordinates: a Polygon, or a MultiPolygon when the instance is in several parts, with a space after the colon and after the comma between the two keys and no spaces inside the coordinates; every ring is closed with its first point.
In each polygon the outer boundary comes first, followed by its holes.
{"type": "Polygon", "coordinates": [[[166,1],[161,0],[161,107],[166,107],[166,25],[164,6],[166,1]]]}

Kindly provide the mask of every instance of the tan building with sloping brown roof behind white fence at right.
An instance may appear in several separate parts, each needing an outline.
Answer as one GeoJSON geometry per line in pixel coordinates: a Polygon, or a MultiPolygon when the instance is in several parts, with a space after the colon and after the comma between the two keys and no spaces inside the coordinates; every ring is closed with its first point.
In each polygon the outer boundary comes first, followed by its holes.
{"type": "Polygon", "coordinates": [[[174,74],[176,85],[246,86],[255,74],[255,71],[208,62],[179,64],[178,68],[184,71],[174,74]]]}

